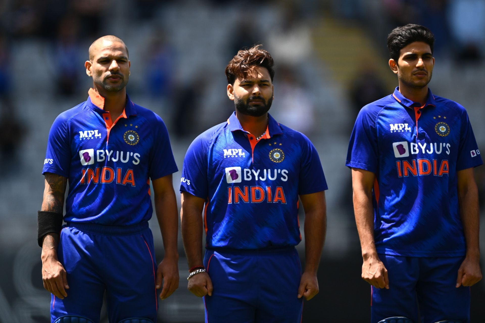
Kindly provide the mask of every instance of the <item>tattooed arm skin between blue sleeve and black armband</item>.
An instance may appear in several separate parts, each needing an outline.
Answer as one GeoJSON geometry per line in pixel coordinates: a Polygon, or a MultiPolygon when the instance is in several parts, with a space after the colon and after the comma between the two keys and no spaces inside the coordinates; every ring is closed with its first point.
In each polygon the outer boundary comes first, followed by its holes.
{"type": "Polygon", "coordinates": [[[67,178],[53,173],[46,173],[45,177],[44,200],[41,210],[62,214],[67,178]]]}

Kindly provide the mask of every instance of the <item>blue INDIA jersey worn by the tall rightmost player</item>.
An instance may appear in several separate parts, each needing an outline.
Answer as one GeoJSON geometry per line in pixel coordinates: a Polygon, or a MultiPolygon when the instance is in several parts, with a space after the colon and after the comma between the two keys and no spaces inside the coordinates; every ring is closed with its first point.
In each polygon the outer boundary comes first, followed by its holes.
{"type": "Polygon", "coordinates": [[[360,110],[346,165],[375,173],[378,253],[465,255],[457,174],[483,164],[465,108],[428,90],[424,106],[392,95],[360,110]]]}

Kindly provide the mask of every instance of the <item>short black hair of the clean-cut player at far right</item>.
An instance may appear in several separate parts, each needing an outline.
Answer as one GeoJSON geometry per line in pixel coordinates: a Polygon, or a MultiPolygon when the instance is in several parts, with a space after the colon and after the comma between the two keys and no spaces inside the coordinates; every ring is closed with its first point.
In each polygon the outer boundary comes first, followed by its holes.
{"type": "Polygon", "coordinates": [[[388,35],[388,49],[391,59],[397,62],[401,49],[414,42],[428,44],[431,48],[431,54],[433,54],[435,35],[429,29],[415,24],[394,28],[388,35]]]}

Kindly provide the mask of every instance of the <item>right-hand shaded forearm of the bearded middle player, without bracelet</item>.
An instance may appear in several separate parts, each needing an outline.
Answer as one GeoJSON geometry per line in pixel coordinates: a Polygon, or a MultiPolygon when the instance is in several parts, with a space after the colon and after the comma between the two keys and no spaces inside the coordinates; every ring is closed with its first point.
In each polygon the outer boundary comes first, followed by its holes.
{"type": "Polygon", "coordinates": [[[305,272],[317,273],[325,241],[326,227],[324,208],[305,213],[305,272]]]}

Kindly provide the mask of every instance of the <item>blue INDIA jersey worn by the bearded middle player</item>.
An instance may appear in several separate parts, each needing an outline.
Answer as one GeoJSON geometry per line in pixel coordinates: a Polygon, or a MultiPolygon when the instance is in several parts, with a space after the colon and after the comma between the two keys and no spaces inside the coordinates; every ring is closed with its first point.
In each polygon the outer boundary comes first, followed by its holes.
{"type": "Polygon", "coordinates": [[[180,191],[206,200],[208,248],[260,249],[301,241],[298,195],[327,189],[315,147],[269,116],[256,140],[233,113],[185,155],[180,191]]]}

